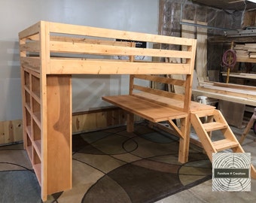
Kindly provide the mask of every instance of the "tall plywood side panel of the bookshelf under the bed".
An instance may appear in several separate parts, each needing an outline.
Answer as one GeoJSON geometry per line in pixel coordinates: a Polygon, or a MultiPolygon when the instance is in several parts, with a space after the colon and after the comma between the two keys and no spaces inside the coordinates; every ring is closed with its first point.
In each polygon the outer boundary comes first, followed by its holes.
{"type": "Polygon", "coordinates": [[[47,194],[72,187],[71,75],[47,76],[47,194]]]}

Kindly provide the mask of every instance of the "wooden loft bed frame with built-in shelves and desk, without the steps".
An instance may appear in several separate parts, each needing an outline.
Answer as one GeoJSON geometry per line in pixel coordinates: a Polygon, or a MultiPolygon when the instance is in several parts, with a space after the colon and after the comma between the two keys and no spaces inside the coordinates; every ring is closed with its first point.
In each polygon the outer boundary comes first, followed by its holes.
{"type": "Polygon", "coordinates": [[[133,131],[133,114],[154,123],[167,121],[180,138],[178,160],[187,162],[190,113],[212,109],[190,101],[195,39],[45,21],[24,29],[19,38],[24,147],[43,201],[49,194],[72,188],[72,74],[130,74],[129,95],[103,99],[127,111],[128,131],[133,131]],[[178,45],[182,50],[142,49],[116,39],[178,45]],[[136,61],[135,56],[179,58],[184,63],[136,61]],[[160,74],[183,74],[186,79],[160,74]],[[179,85],[184,95],[140,86],[136,80],[179,85]],[[173,122],[177,119],[180,127],[173,122]]]}

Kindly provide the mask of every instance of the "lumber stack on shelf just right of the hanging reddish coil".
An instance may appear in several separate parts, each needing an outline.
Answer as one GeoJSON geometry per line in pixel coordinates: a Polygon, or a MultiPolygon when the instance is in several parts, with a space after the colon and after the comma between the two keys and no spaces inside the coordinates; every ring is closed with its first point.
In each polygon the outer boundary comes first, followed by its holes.
{"type": "Polygon", "coordinates": [[[256,59],[256,44],[254,43],[236,44],[234,50],[236,50],[237,58],[256,59]]]}

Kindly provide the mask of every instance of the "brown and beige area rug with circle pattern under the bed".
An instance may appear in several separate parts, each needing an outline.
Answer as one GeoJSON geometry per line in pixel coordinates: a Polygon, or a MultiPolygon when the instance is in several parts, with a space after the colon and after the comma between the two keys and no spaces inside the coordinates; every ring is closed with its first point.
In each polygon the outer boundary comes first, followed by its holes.
{"type": "MultiPolygon", "coordinates": [[[[178,138],[146,123],[133,133],[123,126],[73,135],[72,142],[72,189],[47,202],[155,202],[212,178],[206,154],[190,145],[189,162],[179,163],[178,138]]],[[[0,202],[41,202],[22,146],[0,147],[0,189],[0,202]]]]}

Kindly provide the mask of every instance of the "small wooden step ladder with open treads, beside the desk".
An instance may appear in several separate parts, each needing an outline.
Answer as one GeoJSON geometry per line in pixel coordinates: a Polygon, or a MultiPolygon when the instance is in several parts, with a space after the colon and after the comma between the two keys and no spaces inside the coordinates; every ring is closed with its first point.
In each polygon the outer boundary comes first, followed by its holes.
{"type": "MultiPolygon", "coordinates": [[[[194,111],[191,112],[191,124],[194,126],[197,136],[203,145],[204,150],[212,162],[212,153],[231,149],[233,153],[244,153],[242,146],[233,134],[227,121],[224,119],[221,111],[216,109],[207,111],[194,111]],[[206,118],[206,122],[203,123],[202,119],[206,118]],[[221,140],[215,140],[212,136],[213,131],[220,130],[223,138],[221,140]]],[[[256,170],[251,165],[251,177],[256,179],[256,170]]]]}

